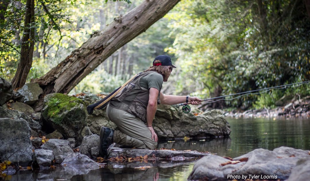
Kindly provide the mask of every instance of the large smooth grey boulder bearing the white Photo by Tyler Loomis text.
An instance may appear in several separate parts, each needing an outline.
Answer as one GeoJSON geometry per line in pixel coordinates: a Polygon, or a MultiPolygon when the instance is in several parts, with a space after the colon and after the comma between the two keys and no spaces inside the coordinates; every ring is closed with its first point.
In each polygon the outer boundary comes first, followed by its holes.
{"type": "Polygon", "coordinates": [[[299,159],[309,151],[280,147],[273,151],[255,149],[232,160],[212,155],[201,158],[193,167],[189,180],[287,179],[299,159]],[[257,178],[253,177],[258,176],[257,178]]]}

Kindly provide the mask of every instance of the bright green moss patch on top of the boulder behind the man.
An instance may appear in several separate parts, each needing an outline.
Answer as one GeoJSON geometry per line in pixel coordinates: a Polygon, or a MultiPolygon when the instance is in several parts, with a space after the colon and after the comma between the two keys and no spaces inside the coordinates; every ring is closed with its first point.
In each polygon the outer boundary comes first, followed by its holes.
{"type": "Polygon", "coordinates": [[[51,118],[54,123],[60,124],[63,120],[63,116],[60,116],[60,114],[67,110],[71,110],[77,104],[83,104],[85,106],[84,102],[81,99],[67,96],[62,93],[56,93],[47,102],[47,116],[51,118]]]}

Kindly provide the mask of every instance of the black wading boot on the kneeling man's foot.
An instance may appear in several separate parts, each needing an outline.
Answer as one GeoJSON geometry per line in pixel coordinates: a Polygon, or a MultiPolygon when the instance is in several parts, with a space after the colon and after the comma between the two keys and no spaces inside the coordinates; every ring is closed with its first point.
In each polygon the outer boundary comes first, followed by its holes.
{"type": "Polygon", "coordinates": [[[100,142],[99,153],[104,158],[108,155],[108,148],[113,143],[114,131],[108,127],[101,127],[100,129],[100,142]]]}

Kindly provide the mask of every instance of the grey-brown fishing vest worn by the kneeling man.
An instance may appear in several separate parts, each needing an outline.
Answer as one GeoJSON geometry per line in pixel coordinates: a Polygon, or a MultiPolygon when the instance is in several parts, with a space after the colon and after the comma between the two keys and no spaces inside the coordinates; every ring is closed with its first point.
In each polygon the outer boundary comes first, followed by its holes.
{"type": "MultiPolygon", "coordinates": [[[[158,73],[156,71],[147,71],[141,73],[141,75],[127,84],[122,91],[117,93],[110,100],[109,105],[133,114],[146,123],[146,108],[148,106],[149,90],[140,87],[139,81],[142,77],[148,74],[158,73]]],[[[157,103],[160,104],[159,94],[157,103]]]]}

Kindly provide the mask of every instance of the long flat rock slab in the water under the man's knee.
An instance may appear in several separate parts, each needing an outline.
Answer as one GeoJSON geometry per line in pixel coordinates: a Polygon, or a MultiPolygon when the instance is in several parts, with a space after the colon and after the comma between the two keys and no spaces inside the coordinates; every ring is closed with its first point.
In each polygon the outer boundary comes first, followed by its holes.
{"type": "Polygon", "coordinates": [[[135,158],[142,156],[147,159],[184,161],[197,157],[203,157],[206,155],[207,153],[201,153],[197,151],[176,151],[169,149],[162,149],[162,150],[124,149],[118,147],[112,147],[108,149],[108,159],[121,156],[124,158],[135,158]],[[145,157],[145,155],[147,155],[147,157],[145,157]]]}

